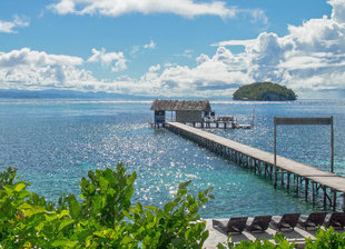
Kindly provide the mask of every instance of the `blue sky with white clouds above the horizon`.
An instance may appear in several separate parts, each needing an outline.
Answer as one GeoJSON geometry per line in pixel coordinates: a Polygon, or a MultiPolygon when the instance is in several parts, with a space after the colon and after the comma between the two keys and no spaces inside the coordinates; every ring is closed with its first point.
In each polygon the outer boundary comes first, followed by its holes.
{"type": "Polygon", "coordinates": [[[345,97],[345,0],[1,0],[0,89],[345,97]]]}

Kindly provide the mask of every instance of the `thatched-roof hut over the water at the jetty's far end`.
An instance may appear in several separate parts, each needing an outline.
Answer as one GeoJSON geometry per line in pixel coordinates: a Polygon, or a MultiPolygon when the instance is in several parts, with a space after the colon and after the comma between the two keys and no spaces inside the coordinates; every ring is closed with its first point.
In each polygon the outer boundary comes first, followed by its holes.
{"type": "Polygon", "coordinates": [[[172,112],[175,112],[175,121],[184,123],[201,122],[203,118],[211,111],[208,100],[156,99],[150,109],[155,111],[155,126],[165,123],[166,111],[171,111],[171,117],[172,112]]]}

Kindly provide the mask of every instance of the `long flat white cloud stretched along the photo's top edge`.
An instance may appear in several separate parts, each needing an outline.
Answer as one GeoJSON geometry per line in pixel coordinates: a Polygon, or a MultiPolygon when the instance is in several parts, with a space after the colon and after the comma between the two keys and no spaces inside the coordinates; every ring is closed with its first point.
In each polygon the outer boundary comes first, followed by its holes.
{"type": "Polygon", "coordinates": [[[235,18],[238,13],[250,14],[253,19],[266,21],[262,10],[239,10],[227,7],[224,1],[195,2],[194,0],[59,0],[50,6],[59,14],[101,14],[119,17],[126,13],[174,13],[185,18],[218,16],[235,18]]]}

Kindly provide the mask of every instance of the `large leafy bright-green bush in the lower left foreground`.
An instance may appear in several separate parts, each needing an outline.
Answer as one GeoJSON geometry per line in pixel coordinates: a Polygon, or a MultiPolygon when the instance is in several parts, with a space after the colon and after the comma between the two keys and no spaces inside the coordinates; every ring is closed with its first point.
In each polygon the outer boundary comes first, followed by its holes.
{"type": "Polygon", "coordinates": [[[211,189],[193,197],[190,181],[162,209],[132,206],[137,175],[119,163],[89,171],[79,182],[81,201],[69,195],[55,205],[16,181],[16,172],[0,173],[0,248],[201,248],[208,237],[198,210],[211,189]]]}

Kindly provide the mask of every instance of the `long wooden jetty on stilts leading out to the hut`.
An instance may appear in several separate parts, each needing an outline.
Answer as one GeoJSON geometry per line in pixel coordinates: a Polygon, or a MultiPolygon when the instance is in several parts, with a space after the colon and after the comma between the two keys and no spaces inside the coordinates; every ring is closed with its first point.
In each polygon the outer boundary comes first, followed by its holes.
{"type": "Polygon", "coordinates": [[[344,177],[280,156],[276,156],[275,161],[274,153],[184,123],[166,122],[165,127],[255,173],[264,175],[270,180],[274,179],[275,187],[277,181],[287,190],[292,189],[292,185],[294,185],[297,193],[304,191],[305,200],[310,198],[315,202],[321,198],[325,209],[331,207],[335,211],[337,202],[339,202],[337,198],[343,196],[342,208],[345,211],[344,177]],[[323,195],[319,193],[321,189],[323,195]]]}

